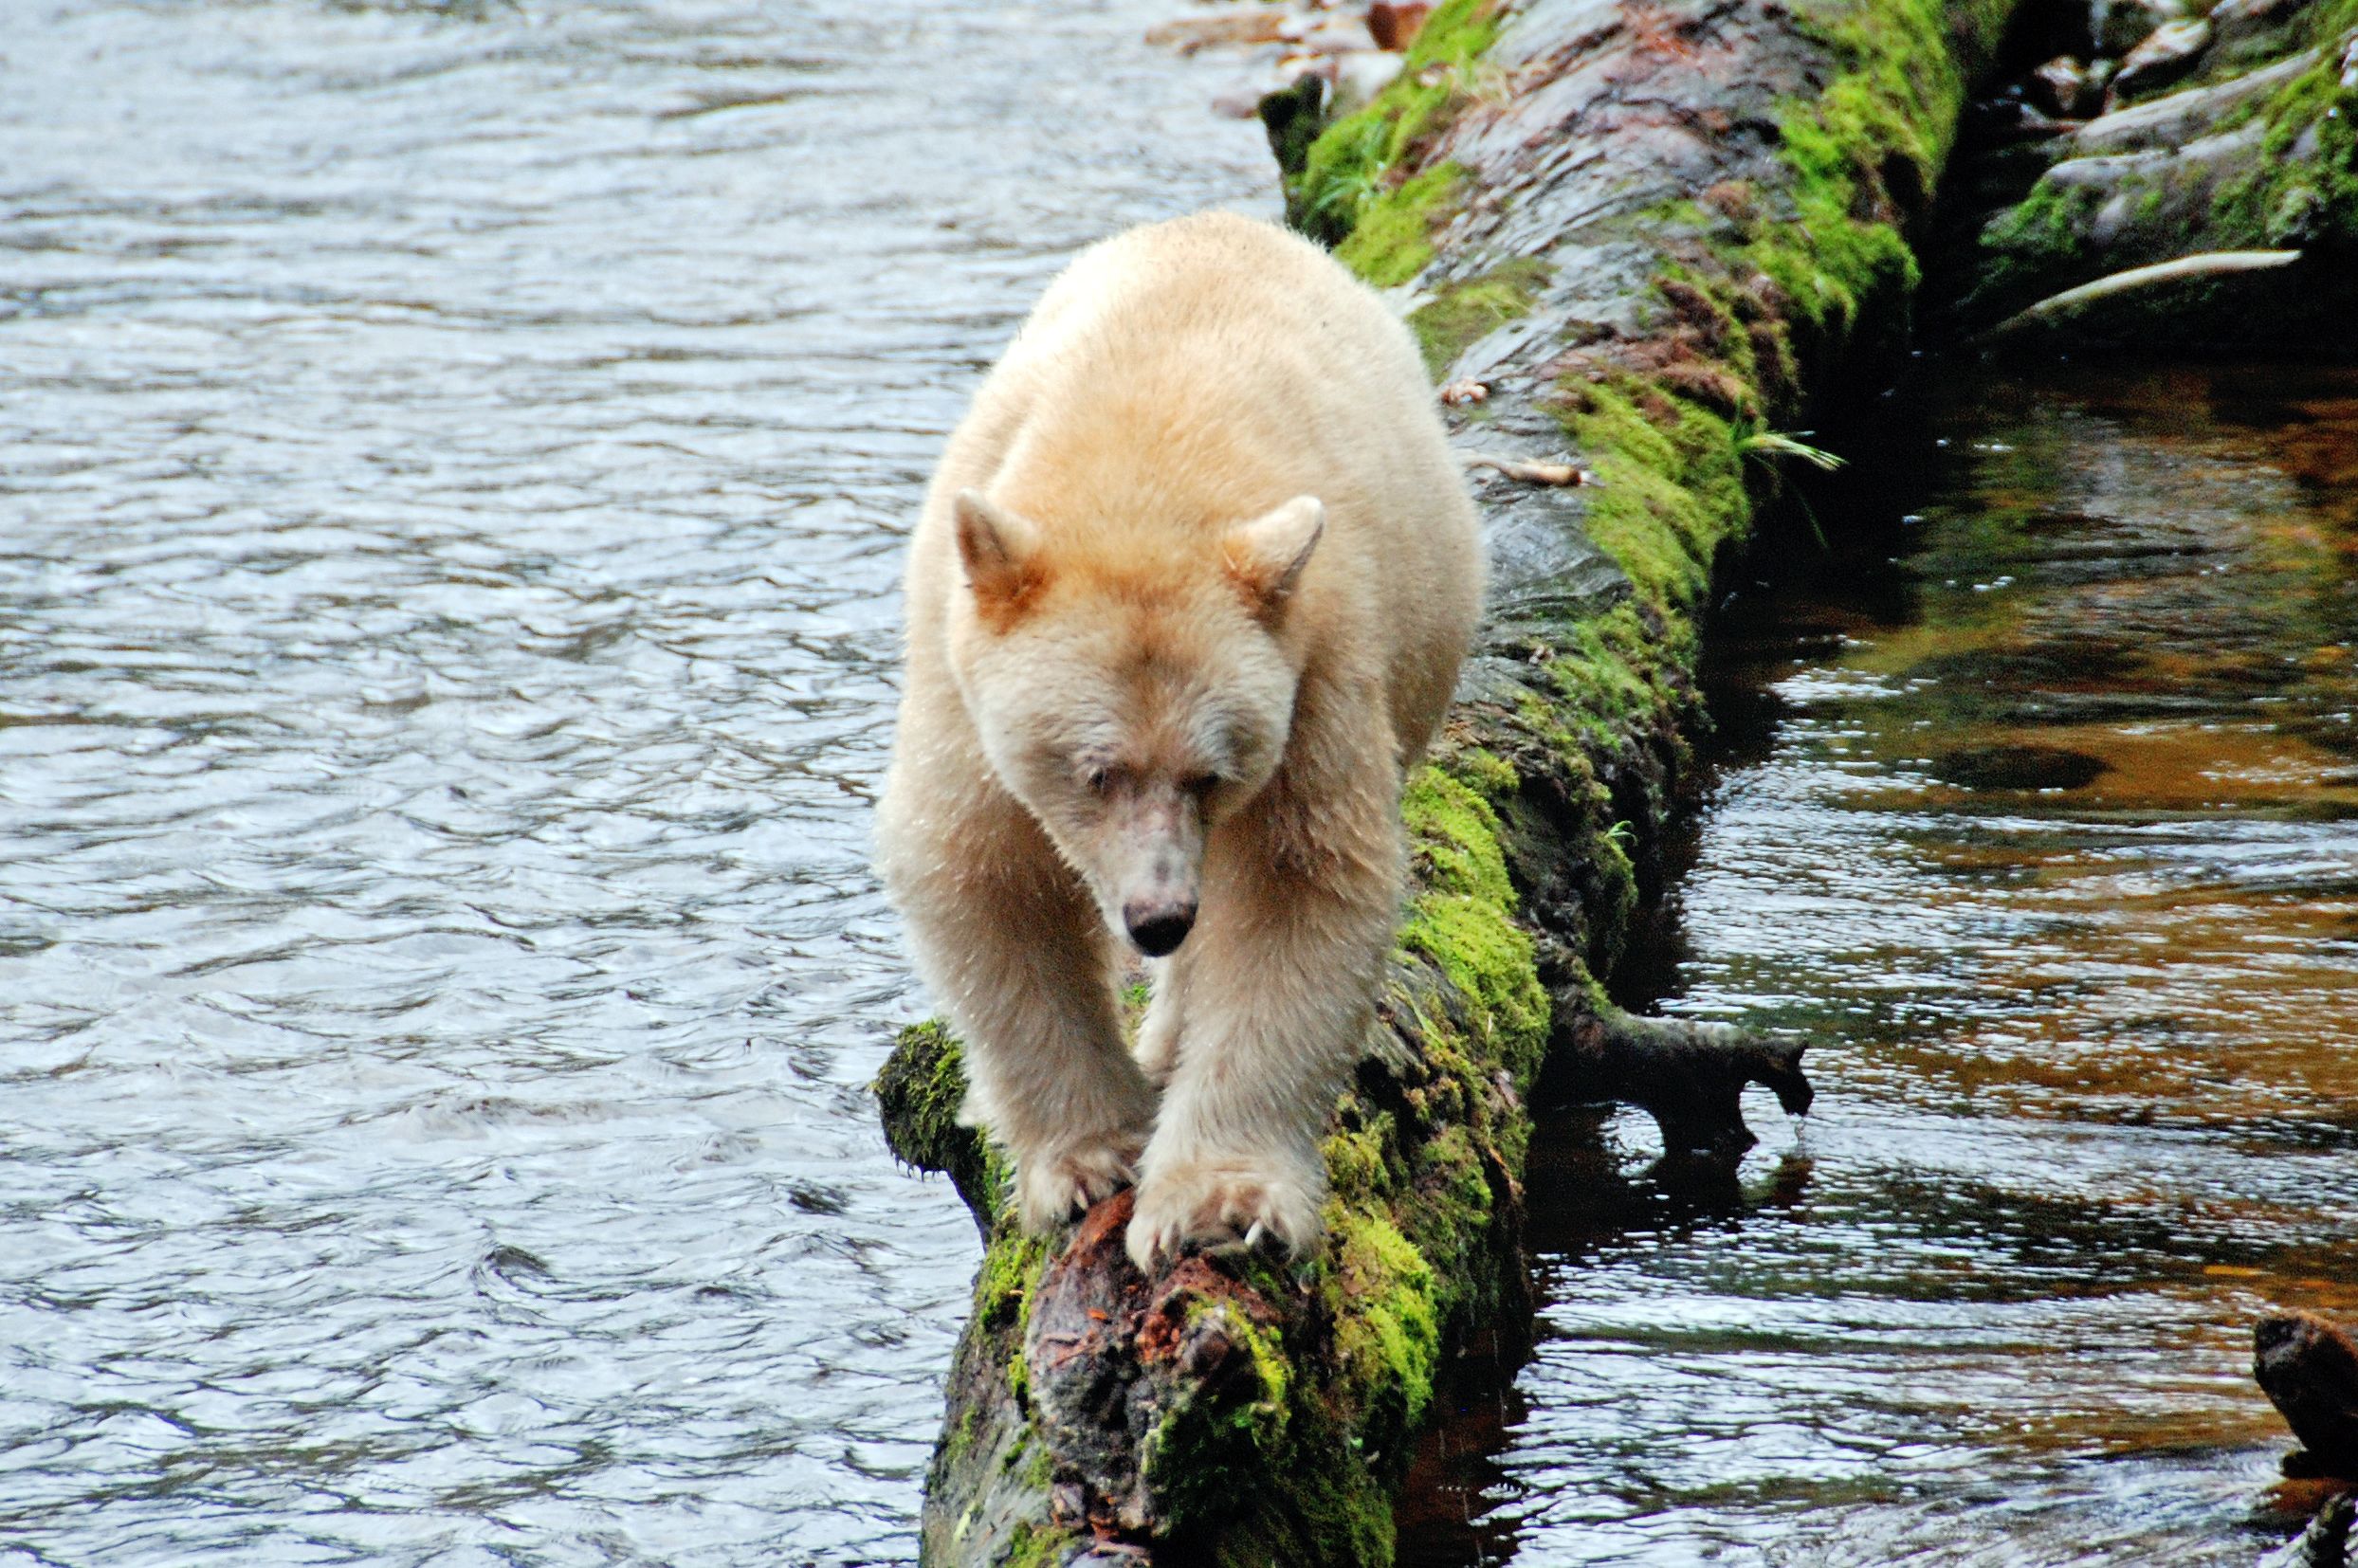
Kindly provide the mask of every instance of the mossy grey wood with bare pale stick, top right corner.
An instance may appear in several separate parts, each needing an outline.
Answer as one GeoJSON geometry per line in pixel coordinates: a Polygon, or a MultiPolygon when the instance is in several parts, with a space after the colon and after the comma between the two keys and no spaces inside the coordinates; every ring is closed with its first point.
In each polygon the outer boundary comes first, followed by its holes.
{"type": "Polygon", "coordinates": [[[2040,172],[1981,219],[1964,325],[2358,349],[2358,0],[2226,0],[2217,14],[2231,12],[2252,21],[2209,28],[2174,92],[2037,125],[2035,141],[1993,153],[2028,153],[2040,172]],[[2297,259],[2148,271],[2226,252],[2297,259]],[[2122,274],[2150,285],[2084,290],[2122,274]]]}

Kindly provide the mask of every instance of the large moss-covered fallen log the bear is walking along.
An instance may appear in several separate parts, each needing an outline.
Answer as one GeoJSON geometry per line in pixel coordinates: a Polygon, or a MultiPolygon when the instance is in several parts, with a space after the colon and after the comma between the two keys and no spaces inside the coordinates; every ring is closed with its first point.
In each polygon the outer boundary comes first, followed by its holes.
{"type": "Polygon", "coordinates": [[[1528,1330],[1542,1068],[1721,1160],[1747,1082],[1809,1103],[1799,1042],[1632,1019],[1603,981],[1662,879],[1714,568],[1778,483],[1757,436],[1905,342],[1905,231],[2007,2],[1448,0],[1365,111],[1316,139],[1273,116],[1290,210],[1401,290],[1467,450],[1596,483],[1478,481],[1493,601],[1408,780],[1412,896],[1325,1139],[1323,1254],[1146,1280],[1127,1195],[1016,1233],[955,1120],[957,1042],[903,1035],[891,1144],[986,1236],[927,1563],[1389,1563],[1448,1358],[1528,1330]]]}

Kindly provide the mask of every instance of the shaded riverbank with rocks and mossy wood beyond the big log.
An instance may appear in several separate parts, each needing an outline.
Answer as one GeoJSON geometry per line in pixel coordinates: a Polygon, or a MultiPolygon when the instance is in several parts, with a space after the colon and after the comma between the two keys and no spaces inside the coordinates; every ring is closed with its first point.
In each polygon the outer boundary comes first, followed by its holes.
{"type": "Polygon", "coordinates": [[[2018,33],[1952,200],[1957,330],[2358,351],[2358,0],[2033,0],[2018,33]]]}

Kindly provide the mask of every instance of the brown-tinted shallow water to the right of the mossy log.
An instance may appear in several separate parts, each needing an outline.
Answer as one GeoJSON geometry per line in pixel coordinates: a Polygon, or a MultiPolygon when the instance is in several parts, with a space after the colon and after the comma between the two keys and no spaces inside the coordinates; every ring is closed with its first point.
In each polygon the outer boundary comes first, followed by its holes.
{"type": "Polygon", "coordinates": [[[1667,1007],[1816,1042],[1738,1181],[1566,1113],[1542,1344],[1415,1561],[2254,1563],[2358,1318],[2358,375],[1950,373],[1747,585],[1667,1007]],[[1601,1141],[1599,1134],[1601,1132],[1601,1141]]]}

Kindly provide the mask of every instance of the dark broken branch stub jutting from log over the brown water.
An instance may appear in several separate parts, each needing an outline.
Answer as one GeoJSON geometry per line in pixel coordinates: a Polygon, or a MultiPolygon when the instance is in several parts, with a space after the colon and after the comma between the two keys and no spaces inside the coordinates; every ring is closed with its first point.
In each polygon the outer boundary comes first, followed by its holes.
{"type": "MultiPolygon", "coordinates": [[[[1644,1108],[1672,1155],[1733,1160],[1759,1137],[1745,1125],[1745,1085],[1768,1087],[1787,1115],[1809,1111],[1813,1089],[1797,1040],[1766,1040],[1733,1023],[1639,1019],[1561,1007],[1568,1026],[1554,1049],[1568,1099],[1618,1099],[1644,1108]]],[[[1552,1063],[1554,1068],[1554,1063],[1552,1063]]]]}

